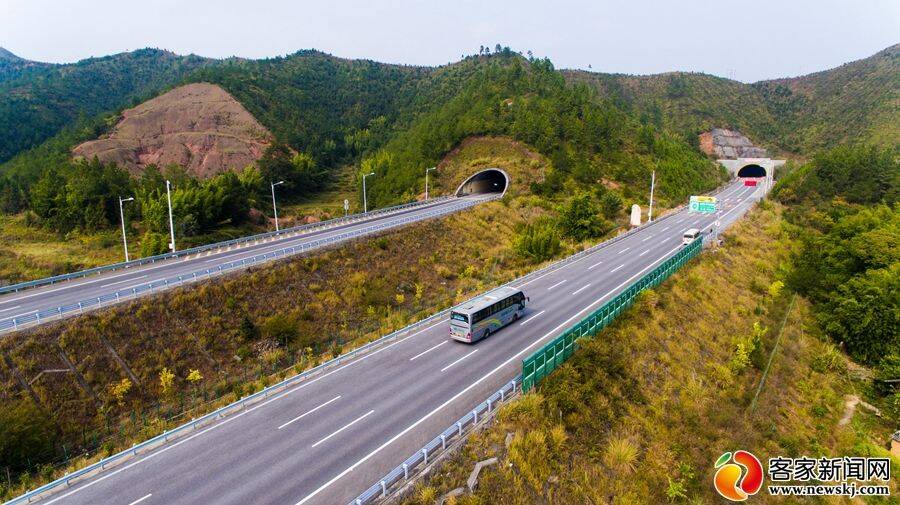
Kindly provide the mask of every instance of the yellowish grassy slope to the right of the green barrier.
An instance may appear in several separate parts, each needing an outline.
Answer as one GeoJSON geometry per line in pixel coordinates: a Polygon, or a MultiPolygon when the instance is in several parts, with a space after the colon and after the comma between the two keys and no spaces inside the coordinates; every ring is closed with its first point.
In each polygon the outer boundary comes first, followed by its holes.
{"type": "Polygon", "coordinates": [[[871,384],[820,330],[810,302],[792,303],[784,212],[756,208],[721,247],[581,340],[405,503],[433,503],[494,456],[500,464],[481,472],[474,495],[453,503],[715,503],[714,463],[725,451],[888,456],[896,415],[860,409],[838,426],[844,395],[869,397],[871,384]]]}

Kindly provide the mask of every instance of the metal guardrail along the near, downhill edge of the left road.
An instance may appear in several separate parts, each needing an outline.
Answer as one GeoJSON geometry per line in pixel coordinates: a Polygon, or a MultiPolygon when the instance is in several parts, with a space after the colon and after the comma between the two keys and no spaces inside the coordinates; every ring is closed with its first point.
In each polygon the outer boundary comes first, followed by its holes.
{"type": "MultiPolygon", "coordinates": [[[[484,201],[484,200],[482,200],[484,201]]],[[[9,317],[6,319],[0,320],[0,334],[8,333],[12,331],[18,331],[23,327],[33,326],[37,324],[41,324],[47,322],[51,319],[60,319],[62,317],[74,315],[74,314],[83,314],[85,310],[96,309],[98,307],[104,305],[112,305],[115,303],[119,303],[123,300],[134,299],[139,295],[153,292],[154,289],[167,289],[169,287],[181,286],[187,282],[193,282],[196,280],[208,279],[213,276],[234,270],[236,268],[242,268],[247,265],[253,265],[256,263],[264,262],[270,259],[275,259],[279,257],[292,256],[294,254],[299,254],[302,252],[310,251],[313,249],[318,249],[320,247],[336,244],[339,242],[343,242],[352,238],[361,237],[363,235],[367,235],[373,232],[377,232],[380,230],[386,230],[390,228],[395,228],[402,224],[413,223],[417,221],[422,221],[425,219],[430,219],[438,216],[443,216],[446,214],[450,214],[453,212],[457,212],[459,210],[474,206],[477,203],[482,201],[476,200],[462,200],[458,204],[450,205],[447,207],[440,208],[438,210],[433,210],[430,212],[425,212],[422,214],[417,214],[411,217],[402,218],[398,221],[392,221],[390,223],[377,224],[368,226],[365,228],[361,228],[358,230],[353,230],[346,233],[341,233],[338,235],[334,235],[331,237],[327,237],[324,239],[314,240],[309,243],[300,244],[292,247],[285,247],[282,249],[278,249],[272,252],[258,254],[256,256],[252,256],[250,258],[243,258],[240,260],[235,260],[228,263],[223,263],[214,268],[206,268],[201,270],[196,270],[191,273],[181,274],[178,276],[173,276],[166,279],[155,280],[152,282],[144,283],[139,286],[133,286],[131,288],[122,289],[110,293],[106,293],[104,295],[91,297],[88,299],[80,300],[75,303],[70,303],[67,305],[61,305],[58,307],[48,308],[36,312],[32,312],[26,315],[17,316],[17,317],[9,317]]]]}

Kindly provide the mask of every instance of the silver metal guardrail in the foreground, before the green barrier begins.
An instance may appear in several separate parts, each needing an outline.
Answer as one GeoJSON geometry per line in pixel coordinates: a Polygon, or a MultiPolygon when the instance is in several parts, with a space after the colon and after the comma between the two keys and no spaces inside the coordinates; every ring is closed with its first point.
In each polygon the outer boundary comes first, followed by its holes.
{"type": "Polygon", "coordinates": [[[447,442],[459,440],[477,426],[478,416],[491,414],[497,410],[497,406],[512,398],[515,395],[516,386],[522,383],[521,377],[521,375],[517,376],[504,384],[502,388],[489,396],[487,400],[479,403],[471,412],[448,426],[440,435],[433,438],[412,456],[406,458],[403,463],[388,472],[387,475],[369,487],[369,489],[363,491],[362,494],[350,502],[349,505],[363,505],[387,497],[394,486],[402,482],[407,482],[410,473],[415,473],[419,466],[428,466],[429,456],[433,457],[447,450],[447,442]]]}

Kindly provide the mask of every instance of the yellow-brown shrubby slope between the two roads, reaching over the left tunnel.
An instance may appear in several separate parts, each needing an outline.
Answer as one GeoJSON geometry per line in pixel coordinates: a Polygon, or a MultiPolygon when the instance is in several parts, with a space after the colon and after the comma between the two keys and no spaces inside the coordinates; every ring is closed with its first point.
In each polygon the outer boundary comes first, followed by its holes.
{"type": "Polygon", "coordinates": [[[507,197],[0,341],[9,358],[0,366],[0,417],[8,421],[0,423],[0,477],[10,470],[0,497],[81,464],[82,454],[111,454],[581,250],[624,223],[618,211],[596,217],[609,225],[602,230],[570,233],[573,204],[530,191],[549,161],[505,138],[461,144],[440,164],[437,191],[481,166],[511,175],[507,197]],[[552,235],[550,248],[522,245],[534,227],[552,235]],[[76,372],[48,372],[67,368],[61,353],[76,372]]]}

